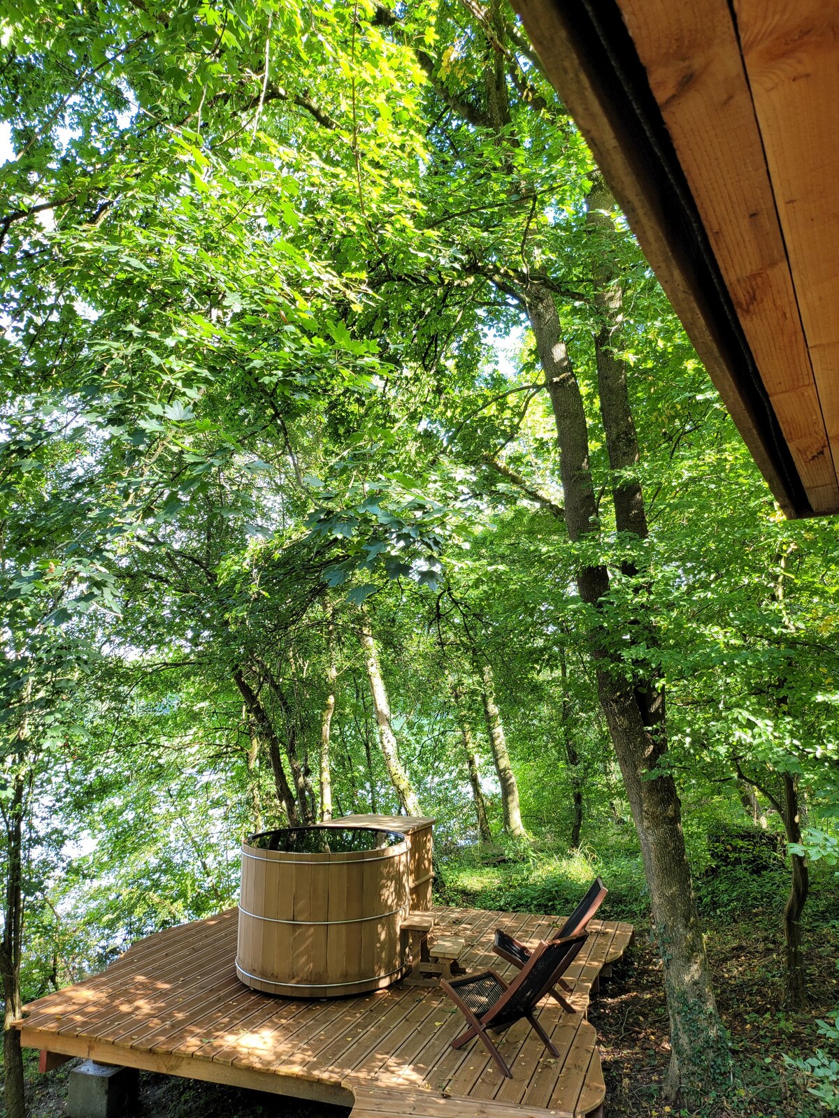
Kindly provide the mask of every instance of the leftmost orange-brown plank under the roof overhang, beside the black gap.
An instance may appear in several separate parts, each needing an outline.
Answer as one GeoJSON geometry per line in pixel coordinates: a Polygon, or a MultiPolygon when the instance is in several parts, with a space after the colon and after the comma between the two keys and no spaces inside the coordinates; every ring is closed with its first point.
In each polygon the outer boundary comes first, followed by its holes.
{"type": "MultiPolygon", "coordinates": [[[[810,503],[817,513],[836,512],[839,487],[833,458],[839,461],[839,442],[833,440],[831,453],[728,4],[726,0],[618,3],[810,503]]],[[[769,10],[756,0],[745,7],[769,10]]],[[[785,88],[781,100],[789,100],[785,88]]],[[[783,112],[776,116],[783,120],[783,112]]],[[[784,123],[801,135],[792,120],[784,123]]],[[[803,150],[803,144],[793,146],[803,150]]],[[[805,192],[804,181],[796,187],[805,192]]],[[[812,231],[817,237],[822,234],[812,231]]],[[[839,324],[839,309],[832,314],[839,324]]]]}

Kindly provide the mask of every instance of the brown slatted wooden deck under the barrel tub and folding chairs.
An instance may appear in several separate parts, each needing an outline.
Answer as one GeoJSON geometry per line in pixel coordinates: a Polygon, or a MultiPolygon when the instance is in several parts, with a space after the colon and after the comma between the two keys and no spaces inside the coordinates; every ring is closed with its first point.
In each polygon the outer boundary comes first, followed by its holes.
{"type": "MultiPolygon", "coordinates": [[[[538,939],[559,922],[433,911],[436,934],[465,939],[468,970],[501,974],[512,968],[491,953],[497,927],[538,939]]],[[[553,999],[539,1010],[562,1058],[519,1022],[499,1044],[512,1079],[478,1041],[449,1046],[463,1018],[436,989],[399,983],[310,1002],[247,989],[234,967],[235,909],[141,940],[101,974],[27,1006],[19,1027],[27,1048],[350,1106],[353,1118],[577,1118],[597,1114],[605,1095],[590,993],[632,940],[626,923],[593,920],[590,930],[566,976],[577,1012],[553,999]]]]}

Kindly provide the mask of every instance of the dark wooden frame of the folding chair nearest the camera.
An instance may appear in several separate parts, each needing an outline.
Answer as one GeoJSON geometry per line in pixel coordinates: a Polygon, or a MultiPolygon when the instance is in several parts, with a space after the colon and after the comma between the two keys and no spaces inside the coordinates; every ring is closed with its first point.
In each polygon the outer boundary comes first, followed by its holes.
{"type": "MultiPolygon", "coordinates": [[[[445,991],[445,993],[449,995],[449,997],[451,997],[451,999],[454,1002],[454,1004],[458,1006],[458,1008],[461,1011],[463,1016],[469,1022],[469,1027],[465,1029],[464,1032],[460,1034],[460,1036],[456,1036],[452,1041],[452,1048],[453,1049],[463,1048],[463,1045],[468,1044],[469,1041],[471,1041],[473,1038],[475,1036],[480,1038],[481,1043],[488,1050],[489,1054],[491,1055],[492,1060],[496,1063],[496,1067],[501,1072],[501,1074],[506,1076],[507,1079],[512,1079],[512,1072],[508,1068],[501,1053],[492,1043],[492,1040],[487,1035],[487,1030],[498,1029],[498,1031],[500,1032],[503,1029],[509,1029],[510,1025],[513,1025],[516,1024],[517,1021],[521,1021],[524,1018],[531,1026],[531,1029],[537,1034],[537,1036],[543,1042],[548,1052],[550,1052],[555,1057],[558,1057],[559,1052],[557,1052],[550,1038],[541,1027],[539,1022],[536,1020],[535,1010],[539,1001],[559,980],[563,972],[575,958],[577,951],[579,950],[579,948],[583,946],[583,944],[587,938],[588,938],[587,932],[582,932],[578,936],[571,936],[565,939],[553,939],[539,942],[530,953],[530,958],[528,959],[527,964],[521,968],[519,974],[516,975],[516,977],[511,983],[505,982],[505,979],[491,967],[489,967],[487,970],[481,970],[478,974],[470,975],[468,979],[460,979],[460,982],[450,983],[446,982],[445,979],[441,980],[440,988],[445,991]],[[555,949],[559,945],[566,946],[566,950],[562,955],[557,965],[547,975],[545,982],[537,988],[537,992],[534,995],[529,996],[527,1003],[524,1004],[519,1010],[517,1010],[513,1005],[512,1013],[515,1014],[515,1016],[510,1017],[510,1020],[505,1021],[499,1025],[493,1025],[492,1024],[493,1021],[496,1021],[499,1017],[502,1017],[505,1013],[510,1012],[510,1003],[515,1003],[516,997],[519,994],[519,991],[529,979],[532,969],[538,964],[539,959],[545,954],[545,951],[550,950],[552,948],[555,949]],[[492,978],[494,978],[494,980],[500,986],[503,987],[503,993],[498,998],[498,1001],[493,1005],[491,1005],[489,1010],[487,1010],[486,1013],[477,1014],[473,1010],[469,1007],[469,1005],[466,1005],[465,1001],[458,993],[458,985],[462,985],[468,980],[474,980],[475,978],[481,978],[487,975],[491,975],[492,978]]],[[[571,1012],[572,1013],[574,1012],[573,1007],[571,1008],[571,1012]]]]}

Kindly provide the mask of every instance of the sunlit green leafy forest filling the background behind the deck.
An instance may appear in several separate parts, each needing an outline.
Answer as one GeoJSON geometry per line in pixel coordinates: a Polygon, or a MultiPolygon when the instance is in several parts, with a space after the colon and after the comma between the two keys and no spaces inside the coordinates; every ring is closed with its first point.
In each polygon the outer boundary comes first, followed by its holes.
{"type": "Polygon", "coordinates": [[[0,2],[0,72],[7,1114],[26,1001],[352,812],[434,816],[443,899],[603,873],[667,1097],[739,1082],[696,882],[769,845],[804,1013],[838,525],[773,502],[513,11],[0,2]]]}

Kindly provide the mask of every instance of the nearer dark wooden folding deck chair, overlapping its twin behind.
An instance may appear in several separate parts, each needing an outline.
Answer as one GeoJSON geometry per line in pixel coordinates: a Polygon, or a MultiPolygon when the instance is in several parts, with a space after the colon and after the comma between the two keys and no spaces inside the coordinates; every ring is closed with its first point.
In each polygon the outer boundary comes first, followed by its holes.
{"type": "Polygon", "coordinates": [[[512,1072],[487,1035],[487,1030],[491,1029],[494,1032],[509,1029],[524,1017],[530,1023],[548,1052],[558,1057],[559,1053],[534,1016],[534,1012],[540,998],[559,980],[586,939],[587,932],[582,932],[572,936],[571,939],[553,939],[549,942],[538,944],[509,985],[492,969],[481,970],[480,974],[468,975],[465,978],[455,978],[452,982],[441,980],[441,989],[445,991],[469,1022],[469,1029],[452,1041],[452,1048],[463,1048],[472,1038],[480,1036],[499,1071],[508,1079],[512,1079],[512,1072]]]}

